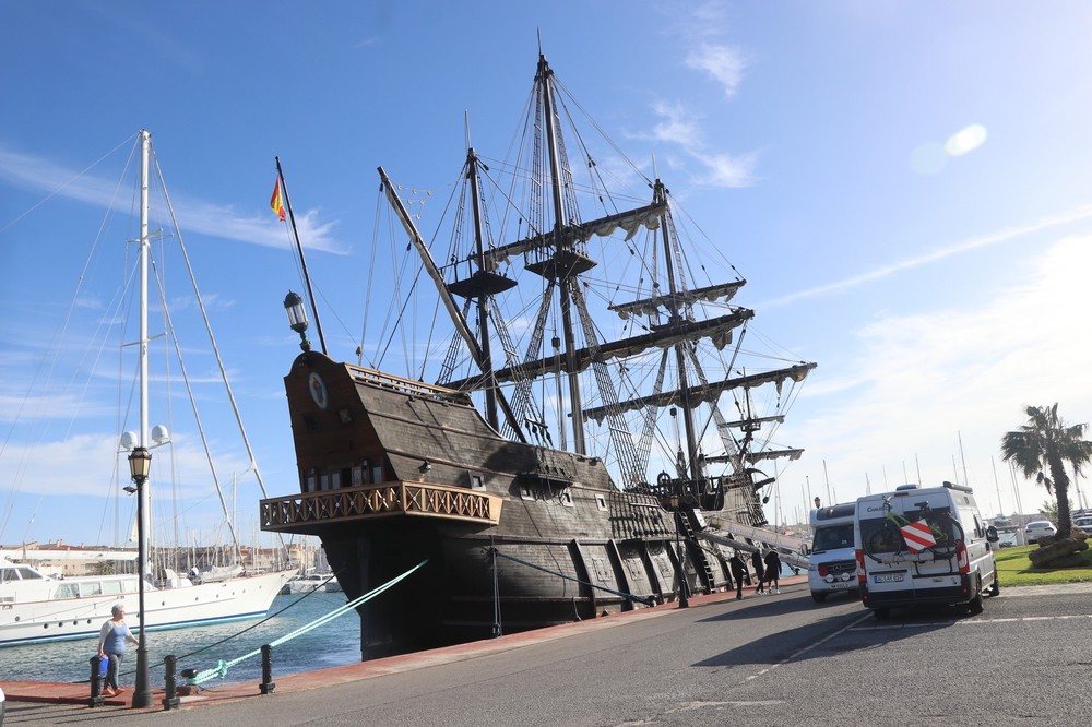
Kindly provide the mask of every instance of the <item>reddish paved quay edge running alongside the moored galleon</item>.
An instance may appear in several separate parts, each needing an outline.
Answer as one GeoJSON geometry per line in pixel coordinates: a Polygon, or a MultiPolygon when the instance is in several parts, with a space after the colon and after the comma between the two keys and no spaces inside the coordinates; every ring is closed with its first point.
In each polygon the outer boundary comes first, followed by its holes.
{"type": "MultiPolygon", "coordinates": [[[[782,592],[784,593],[787,588],[797,587],[799,584],[807,586],[807,574],[793,575],[781,580],[782,592]]],[[[755,587],[744,588],[744,598],[776,598],[778,596],[762,596],[755,595],[755,587]]],[[[701,608],[710,604],[716,604],[724,600],[735,599],[735,591],[720,592],[709,595],[693,596],[689,599],[691,608],[701,608]]],[[[440,664],[451,664],[454,662],[462,662],[466,659],[472,659],[478,656],[485,656],[488,654],[495,654],[498,652],[505,652],[509,649],[521,648],[532,644],[539,644],[549,641],[555,641],[558,639],[565,639],[567,636],[578,635],[586,631],[596,629],[608,629],[618,625],[625,625],[627,623],[633,623],[636,621],[641,621],[645,619],[656,618],[658,616],[664,616],[676,610],[678,605],[676,603],[668,603],[662,606],[654,606],[652,608],[640,608],[632,611],[624,611],[621,613],[613,613],[610,616],[603,616],[595,619],[590,619],[586,621],[579,621],[574,623],[565,623],[561,625],[549,627],[546,629],[537,629],[535,631],[525,631],[522,633],[514,633],[506,636],[499,636],[497,639],[488,639],[485,641],[476,641],[466,644],[456,644],[454,646],[444,646],[441,648],[434,648],[426,652],[416,652],[414,654],[403,654],[400,656],[391,656],[382,659],[373,659],[370,662],[360,662],[358,664],[348,664],[339,667],[329,667],[325,669],[319,669],[316,671],[302,671],[299,674],[287,675],[283,677],[277,677],[273,675],[273,680],[276,684],[274,693],[292,693],[301,692],[312,689],[320,689],[322,687],[329,687],[332,684],[341,684],[353,681],[359,681],[363,679],[371,679],[373,677],[380,677],[389,674],[396,674],[400,671],[410,671],[413,669],[422,669],[429,666],[437,666],[440,664]]],[[[224,702],[233,702],[238,700],[245,700],[253,696],[261,696],[259,686],[257,682],[237,682],[237,683],[217,683],[210,682],[214,686],[202,689],[199,694],[192,696],[180,698],[179,708],[189,708],[194,706],[200,706],[204,704],[219,704],[224,702]]],[[[37,702],[37,703],[52,703],[52,704],[75,704],[83,705],[87,703],[91,694],[91,688],[86,683],[54,683],[54,682],[40,682],[40,681],[3,681],[0,682],[0,687],[3,688],[4,694],[9,702],[37,702]]],[[[159,712],[163,710],[163,699],[164,691],[162,689],[152,690],[153,706],[145,710],[146,712],[159,712]]],[[[124,707],[128,706],[132,701],[132,689],[126,691],[120,696],[107,698],[104,701],[104,706],[109,707],[124,707]]]]}

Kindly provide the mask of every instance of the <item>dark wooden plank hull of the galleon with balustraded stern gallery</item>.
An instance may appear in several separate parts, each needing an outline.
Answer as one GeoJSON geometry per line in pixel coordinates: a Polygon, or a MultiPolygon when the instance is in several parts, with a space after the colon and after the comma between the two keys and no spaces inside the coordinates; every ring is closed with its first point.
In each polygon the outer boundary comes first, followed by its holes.
{"type": "Polygon", "coordinates": [[[302,492],[263,500],[262,528],[319,536],[351,600],[427,561],[358,609],[366,659],[674,599],[680,564],[688,593],[731,583],[695,513],[746,510],[745,490],[620,491],[596,457],[506,440],[464,394],[314,351],[285,388],[302,492]]]}

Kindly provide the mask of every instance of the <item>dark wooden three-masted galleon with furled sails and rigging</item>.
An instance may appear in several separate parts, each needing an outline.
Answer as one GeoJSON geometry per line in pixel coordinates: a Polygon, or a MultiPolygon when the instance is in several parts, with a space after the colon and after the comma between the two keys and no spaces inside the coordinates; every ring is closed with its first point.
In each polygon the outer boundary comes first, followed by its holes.
{"type": "MultiPolygon", "coordinates": [[[[418,568],[358,607],[366,659],[724,589],[735,550],[775,536],[760,467],[803,450],[763,428],[816,365],[745,366],[753,311],[729,301],[746,281],[698,279],[707,259],[658,178],[632,167],[651,194],[608,195],[563,93],[539,53],[525,152],[486,164],[467,143],[442,254],[410,211],[419,188],[379,169],[406,267],[454,330],[435,366],[335,360],[311,348],[304,299],[285,301],[300,491],[262,500],[261,526],[318,535],[349,599],[418,568]],[[526,206],[498,224],[489,200],[526,206]]],[[[414,306],[394,306],[408,323],[414,306]]]]}

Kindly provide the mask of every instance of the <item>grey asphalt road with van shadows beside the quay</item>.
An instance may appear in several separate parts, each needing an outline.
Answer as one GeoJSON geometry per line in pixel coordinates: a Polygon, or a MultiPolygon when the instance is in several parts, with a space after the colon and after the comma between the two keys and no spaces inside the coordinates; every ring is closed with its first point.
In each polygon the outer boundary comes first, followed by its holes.
{"type": "Polygon", "coordinates": [[[178,712],[11,703],[4,726],[1088,725],[1092,585],[877,621],[806,585],[401,674],[178,712]]]}

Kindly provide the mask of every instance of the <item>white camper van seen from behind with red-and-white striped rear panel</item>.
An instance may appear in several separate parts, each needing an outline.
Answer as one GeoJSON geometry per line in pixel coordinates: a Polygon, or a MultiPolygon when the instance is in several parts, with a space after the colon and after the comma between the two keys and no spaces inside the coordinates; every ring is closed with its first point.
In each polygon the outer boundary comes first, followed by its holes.
{"type": "Polygon", "coordinates": [[[876,618],[921,604],[981,613],[983,594],[1000,592],[997,531],[985,525],[970,487],[903,485],[858,498],[853,538],[860,600],[876,618]]]}

